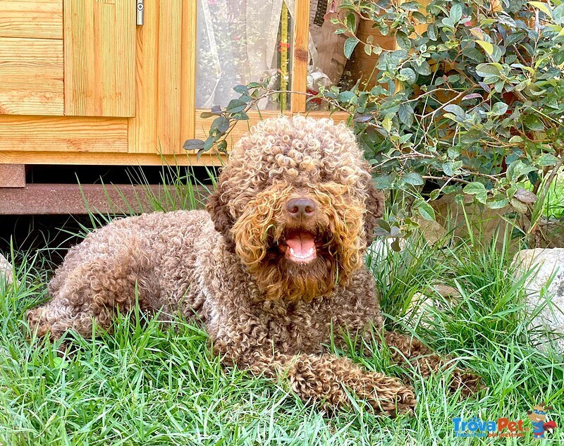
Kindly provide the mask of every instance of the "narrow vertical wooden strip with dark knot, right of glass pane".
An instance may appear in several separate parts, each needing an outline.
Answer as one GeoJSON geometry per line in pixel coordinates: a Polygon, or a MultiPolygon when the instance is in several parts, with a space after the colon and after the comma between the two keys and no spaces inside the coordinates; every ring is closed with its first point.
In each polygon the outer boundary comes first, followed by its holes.
{"type": "MultiPolygon", "coordinates": [[[[309,45],[309,0],[295,0],[292,90],[305,92],[309,45]]],[[[305,95],[292,94],[291,110],[305,111],[305,95]]]]}

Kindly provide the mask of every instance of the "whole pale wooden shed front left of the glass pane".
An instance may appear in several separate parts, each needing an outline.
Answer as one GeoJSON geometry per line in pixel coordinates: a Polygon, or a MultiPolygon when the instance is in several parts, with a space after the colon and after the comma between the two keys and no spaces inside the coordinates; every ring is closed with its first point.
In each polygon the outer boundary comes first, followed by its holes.
{"type": "Polygon", "coordinates": [[[0,163],[209,161],[182,147],[195,127],[196,1],[145,0],[144,25],[135,9],[0,0],[0,163]]]}

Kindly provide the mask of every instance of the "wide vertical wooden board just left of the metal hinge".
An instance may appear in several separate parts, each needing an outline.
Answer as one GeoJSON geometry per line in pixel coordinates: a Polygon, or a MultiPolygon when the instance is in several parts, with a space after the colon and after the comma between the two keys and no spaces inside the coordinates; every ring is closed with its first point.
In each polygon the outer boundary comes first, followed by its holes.
{"type": "Polygon", "coordinates": [[[135,116],[135,0],[64,0],[65,114],[135,116]]]}

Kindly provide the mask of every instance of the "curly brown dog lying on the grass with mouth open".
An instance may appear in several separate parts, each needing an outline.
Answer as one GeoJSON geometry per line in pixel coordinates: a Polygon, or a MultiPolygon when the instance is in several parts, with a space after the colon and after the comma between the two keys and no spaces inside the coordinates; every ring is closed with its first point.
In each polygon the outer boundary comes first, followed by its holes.
{"type": "MultiPolygon", "coordinates": [[[[413,388],[324,353],[344,333],[386,340],[392,356],[429,376],[444,364],[417,340],[382,333],[372,243],[382,194],[355,135],[329,119],[264,120],[235,145],[206,211],[113,221],[68,252],[50,302],[27,313],[38,335],[110,329],[117,310],[194,311],[223,362],[288,379],[304,401],[350,403],[348,390],[394,416],[413,388]]],[[[452,386],[475,377],[454,372],[452,386]]]]}

